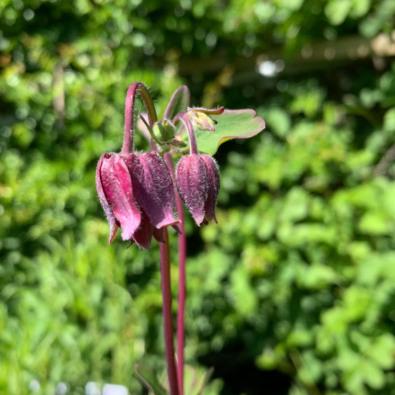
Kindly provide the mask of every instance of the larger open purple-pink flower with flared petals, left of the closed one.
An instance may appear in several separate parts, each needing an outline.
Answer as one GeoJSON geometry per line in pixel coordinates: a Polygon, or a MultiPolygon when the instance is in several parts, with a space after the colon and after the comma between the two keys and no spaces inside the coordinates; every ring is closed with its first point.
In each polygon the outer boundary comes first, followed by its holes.
{"type": "Polygon", "coordinates": [[[163,242],[163,227],[176,225],[170,171],[156,152],[104,154],[96,170],[100,202],[110,222],[110,243],[122,239],[150,249],[151,239],[163,242]]]}

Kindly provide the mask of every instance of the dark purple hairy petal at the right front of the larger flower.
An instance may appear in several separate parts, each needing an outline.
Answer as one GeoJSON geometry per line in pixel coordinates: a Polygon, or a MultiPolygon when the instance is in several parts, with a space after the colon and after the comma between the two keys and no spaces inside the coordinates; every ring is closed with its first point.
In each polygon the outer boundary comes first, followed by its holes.
{"type": "Polygon", "coordinates": [[[170,171],[155,151],[125,158],[137,204],[155,228],[178,224],[174,217],[174,187],[170,171]]]}

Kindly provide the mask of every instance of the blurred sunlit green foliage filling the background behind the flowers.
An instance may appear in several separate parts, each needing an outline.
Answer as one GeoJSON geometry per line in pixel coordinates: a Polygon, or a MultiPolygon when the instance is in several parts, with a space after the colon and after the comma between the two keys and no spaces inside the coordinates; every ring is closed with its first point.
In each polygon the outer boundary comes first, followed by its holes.
{"type": "Polygon", "coordinates": [[[134,363],[164,370],[158,249],[109,246],[94,185],[142,80],[159,113],[187,83],[194,104],[267,121],[219,150],[219,225],[187,216],[187,361],[210,357],[224,395],[395,394],[395,63],[292,71],[306,45],[391,33],[394,14],[391,0],[2,0],[0,393],[37,379],[37,394],[89,380],[137,394],[134,363]],[[264,78],[254,59],[273,48],[285,70],[264,78]]]}

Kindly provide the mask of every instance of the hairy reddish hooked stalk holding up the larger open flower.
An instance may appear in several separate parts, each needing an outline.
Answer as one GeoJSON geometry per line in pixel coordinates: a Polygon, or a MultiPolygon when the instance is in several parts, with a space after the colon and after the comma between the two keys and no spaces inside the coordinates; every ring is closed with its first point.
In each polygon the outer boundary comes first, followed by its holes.
{"type": "Polygon", "coordinates": [[[143,99],[150,126],[153,127],[154,123],[158,120],[154,103],[146,86],[142,82],[132,83],[127,90],[125,100],[125,135],[121,151],[121,155],[125,156],[133,152],[134,102],[137,94],[143,99]]]}

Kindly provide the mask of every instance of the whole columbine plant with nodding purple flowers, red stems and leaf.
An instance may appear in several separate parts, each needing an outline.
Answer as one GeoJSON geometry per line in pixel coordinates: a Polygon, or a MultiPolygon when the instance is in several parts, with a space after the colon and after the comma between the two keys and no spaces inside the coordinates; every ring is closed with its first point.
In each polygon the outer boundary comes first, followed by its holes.
{"type": "MultiPolygon", "coordinates": [[[[184,310],[186,298],[186,238],[182,201],[197,225],[215,218],[220,189],[218,165],[212,155],[232,138],[249,138],[265,128],[252,110],[189,108],[190,93],[178,88],[158,121],[152,98],[141,82],[129,86],[125,103],[125,132],[119,154],[103,154],[96,170],[96,187],[110,224],[110,244],[122,230],[122,240],[151,248],[159,242],[163,296],[164,341],[171,395],[184,395],[184,310]],[[151,135],[152,150],[133,150],[134,104],[140,95],[148,115],[139,115],[151,135]],[[184,155],[186,154],[186,155],[184,155]],[[176,170],[173,157],[183,155],[176,170]],[[176,213],[175,214],[175,206],[176,213]],[[178,232],[179,293],[177,314],[177,364],[173,344],[170,289],[170,254],[167,227],[178,232]]],[[[145,366],[136,372],[156,395],[166,394],[155,374],[145,366]]],[[[200,381],[201,382],[201,381],[200,381]]]]}

